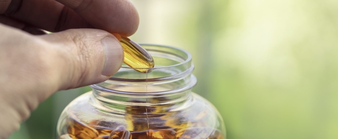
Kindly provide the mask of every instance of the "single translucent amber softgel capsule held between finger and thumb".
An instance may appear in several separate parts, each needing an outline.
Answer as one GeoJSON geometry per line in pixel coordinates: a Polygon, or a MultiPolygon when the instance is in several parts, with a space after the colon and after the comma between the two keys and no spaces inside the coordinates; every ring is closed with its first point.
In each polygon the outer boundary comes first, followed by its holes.
{"type": "Polygon", "coordinates": [[[143,73],[150,72],[149,68],[154,68],[153,57],[139,44],[124,36],[121,36],[120,43],[124,51],[125,64],[143,73]]]}

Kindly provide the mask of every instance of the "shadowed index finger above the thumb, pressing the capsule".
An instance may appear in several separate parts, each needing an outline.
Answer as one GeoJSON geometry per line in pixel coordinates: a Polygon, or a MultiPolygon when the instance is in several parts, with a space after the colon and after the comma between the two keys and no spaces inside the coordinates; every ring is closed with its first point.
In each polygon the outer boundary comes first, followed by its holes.
{"type": "Polygon", "coordinates": [[[57,1],[11,0],[5,13],[51,32],[97,28],[130,36],[138,28],[139,16],[129,0],[57,1]]]}

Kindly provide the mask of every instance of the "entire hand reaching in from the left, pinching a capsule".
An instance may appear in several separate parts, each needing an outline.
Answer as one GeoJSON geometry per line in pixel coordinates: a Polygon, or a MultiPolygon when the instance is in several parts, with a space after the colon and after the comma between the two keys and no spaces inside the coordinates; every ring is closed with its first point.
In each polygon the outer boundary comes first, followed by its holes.
{"type": "Polygon", "coordinates": [[[0,0],[0,139],[52,93],[119,70],[123,50],[111,33],[130,36],[138,23],[128,0],[0,0]],[[57,33],[32,35],[40,29],[57,33]]]}

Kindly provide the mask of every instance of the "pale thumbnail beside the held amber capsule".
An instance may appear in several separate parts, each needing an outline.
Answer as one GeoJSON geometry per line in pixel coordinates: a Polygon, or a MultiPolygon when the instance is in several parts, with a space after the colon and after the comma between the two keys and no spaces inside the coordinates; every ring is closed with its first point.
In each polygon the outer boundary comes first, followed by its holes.
{"type": "Polygon", "coordinates": [[[114,38],[106,37],[101,40],[104,48],[105,62],[102,75],[111,76],[115,74],[122,66],[123,49],[119,41],[114,38]]]}

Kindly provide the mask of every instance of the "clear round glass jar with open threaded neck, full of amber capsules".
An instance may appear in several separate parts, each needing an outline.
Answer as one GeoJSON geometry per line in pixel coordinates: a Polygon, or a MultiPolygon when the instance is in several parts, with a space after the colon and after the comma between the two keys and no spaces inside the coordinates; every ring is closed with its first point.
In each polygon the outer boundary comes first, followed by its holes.
{"type": "Polygon", "coordinates": [[[73,100],[57,124],[57,139],[225,139],[216,108],[191,92],[191,55],[141,45],[154,58],[147,73],[126,65],[73,100]]]}

